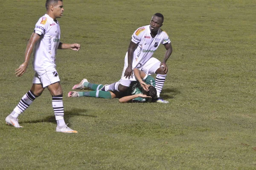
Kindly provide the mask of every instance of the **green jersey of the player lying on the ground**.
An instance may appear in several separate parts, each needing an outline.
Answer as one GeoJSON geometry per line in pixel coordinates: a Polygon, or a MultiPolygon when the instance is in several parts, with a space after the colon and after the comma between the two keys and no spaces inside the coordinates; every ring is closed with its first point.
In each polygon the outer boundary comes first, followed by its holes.
{"type": "MultiPolygon", "coordinates": [[[[151,86],[155,86],[156,82],[154,78],[151,75],[148,75],[143,80],[146,84],[150,84],[151,86]]],[[[138,81],[132,81],[131,85],[129,86],[126,95],[137,95],[143,93],[143,88],[140,86],[140,83],[138,81]]],[[[148,102],[151,101],[151,98],[134,98],[132,99],[132,102],[148,102]]]]}

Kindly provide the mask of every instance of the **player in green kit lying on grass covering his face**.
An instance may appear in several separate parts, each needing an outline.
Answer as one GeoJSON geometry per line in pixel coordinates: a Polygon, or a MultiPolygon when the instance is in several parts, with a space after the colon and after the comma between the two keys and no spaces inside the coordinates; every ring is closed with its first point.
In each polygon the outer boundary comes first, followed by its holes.
{"type": "Polygon", "coordinates": [[[83,79],[79,84],[73,86],[72,89],[84,89],[89,88],[95,91],[89,92],[75,92],[71,91],[68,93],[68,97],[96,97],[96,98],[119,98],[120,103],[127,102],[151,102],[151,98],[157,95],[157,90],[155,89],[155,80],[150,75],[145,74],[145,72],[139,69],[134,69],[134,75],[137,81],[133,81],[131,86],[126,92],[111,92],[100,90],[102,84],[92,84],[83,79]]]}

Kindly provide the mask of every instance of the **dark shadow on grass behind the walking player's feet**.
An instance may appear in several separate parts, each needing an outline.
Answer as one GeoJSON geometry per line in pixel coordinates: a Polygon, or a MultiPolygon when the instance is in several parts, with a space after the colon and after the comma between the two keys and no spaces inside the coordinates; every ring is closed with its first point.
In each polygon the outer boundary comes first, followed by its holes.
{"type": "MultiPolygon", "coordinates": [[[[77,108],[67,110],[67,111],[64,112],[64,120],[65,120],[65,122],[69,122],[69,119],[73,116],[89,116],[89,117],[94,117],[94,118],[97,117],[97,116],[94,116],[94,115],[81,114],[81,113],[86,112],[86,111],[87,111],[86,109],[77,109],[77,108]]],[[[41,123],[41,122],[56,123],[54,113],[52,113],[51,116],[47,116],[46,118],[43,118],[43,119],[40,119],[40,120],[22,121],[22,123],[29,123],[29,124],[36,124],[36,123],[41,123]]]]}

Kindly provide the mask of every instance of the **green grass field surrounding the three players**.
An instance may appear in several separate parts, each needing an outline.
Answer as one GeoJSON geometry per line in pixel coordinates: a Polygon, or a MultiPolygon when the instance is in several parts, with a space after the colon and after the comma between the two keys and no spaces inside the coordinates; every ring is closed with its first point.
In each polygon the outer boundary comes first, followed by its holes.
{"type": "Polygon", "coordinates": [[[61,42],[81,50],[59,50],[56,63],[77,134],[55,132],[48,90],[20,115],[23,129],[5,124],[32,85],[32,60],[21,78],[14,70],[45,1],[0,3],[0,169],[256,169],[254,0],[64,0],[61,42]],[[173,46],[161,94],[169,104],[67,98],[83,78],[119,80],[132,33],[156,12],[173,46]]]}

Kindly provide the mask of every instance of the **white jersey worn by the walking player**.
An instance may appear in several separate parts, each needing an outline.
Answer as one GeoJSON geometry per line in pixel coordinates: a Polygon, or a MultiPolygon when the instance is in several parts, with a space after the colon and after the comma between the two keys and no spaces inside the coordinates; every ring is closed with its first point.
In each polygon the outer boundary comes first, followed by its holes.
{"type": "Polygon", "coordinates": [[[57,20],[48,14],[35,24],[35,33],[41,35],[35,44],[33,67],[35,70],[55,68],[55,55],[60,43],[61,30],[57,20]]]}

